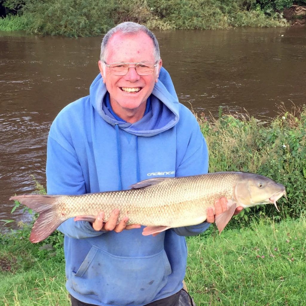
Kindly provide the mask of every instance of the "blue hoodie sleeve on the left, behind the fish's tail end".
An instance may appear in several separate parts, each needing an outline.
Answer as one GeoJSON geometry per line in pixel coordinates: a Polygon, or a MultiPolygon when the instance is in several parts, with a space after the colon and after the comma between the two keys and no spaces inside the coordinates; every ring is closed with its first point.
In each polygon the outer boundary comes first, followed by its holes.
{"type": "MultiPolygon", "coordinates": [[[[56,129],[56,128],[55,128],[56,129]]],[[[84,194],[85,182],[80,163],[73,146],[58,130],[51,130],[47,142],[47,193],[53,195],[84,194]],[[54,139],[57,136],[58,141],[54,139]]],[[[95,237],[103,232],[96,231],[87,221],[74,221],[69,218],[63,222],[58,230],[65,235],[82,239],[95,237]]]]}

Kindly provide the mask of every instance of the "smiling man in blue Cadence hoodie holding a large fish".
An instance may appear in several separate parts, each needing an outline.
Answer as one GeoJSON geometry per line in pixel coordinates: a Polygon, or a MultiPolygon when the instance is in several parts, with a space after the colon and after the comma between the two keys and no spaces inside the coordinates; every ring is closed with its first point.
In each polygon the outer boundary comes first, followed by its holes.
{"type": "MultiPolygon", "coordinates": [[[[200,128],[178,103],[162,68],[155,36],[127,22],[103,38],[100,74],[90,95],[66,106],[54,120],[47,147],[49,194],[84,194],[128,189],[156,176],[186,176],[208,170],[200,128]],[[59,171],[60,170],[60,171],[59,171]]],[[[226,200],[216,201],[216,213],[226,200]]],[[[126,226],[115,209],[104,222],[65,221],[66,288],[72,305],[176,305],[185,275],[184,236],[214,222],[143,236],[126,226]],[[117,225],[117,220],[121,220],[117,225]]]]}

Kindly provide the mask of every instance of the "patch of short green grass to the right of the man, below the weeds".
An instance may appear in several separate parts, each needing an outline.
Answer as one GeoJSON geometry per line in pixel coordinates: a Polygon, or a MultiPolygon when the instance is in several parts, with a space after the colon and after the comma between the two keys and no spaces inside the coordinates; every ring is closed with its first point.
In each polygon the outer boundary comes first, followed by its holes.
{"type": "Polygon", "coordinates": [[[185,281],[196,304],[305,305],[305,233],[305,218],[261,219],[188,238],[185,281]]]}

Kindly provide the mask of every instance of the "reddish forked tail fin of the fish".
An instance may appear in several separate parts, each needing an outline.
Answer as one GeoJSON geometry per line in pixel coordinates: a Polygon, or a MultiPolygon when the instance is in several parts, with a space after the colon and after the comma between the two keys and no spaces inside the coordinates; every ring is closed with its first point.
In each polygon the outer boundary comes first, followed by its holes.
{"type": "Polygon", "coordinates": [[[59,196],[41,196],[41,195],[23,195],[12,196],[9,200],[18,201],[22,205],[32,208],[39,213],[39,217],[35,221],[30,241],[33,243],[42,241],[53,233],[56,228],[64,221],[59,218],[56,211],[56,199],[59,196]]]}

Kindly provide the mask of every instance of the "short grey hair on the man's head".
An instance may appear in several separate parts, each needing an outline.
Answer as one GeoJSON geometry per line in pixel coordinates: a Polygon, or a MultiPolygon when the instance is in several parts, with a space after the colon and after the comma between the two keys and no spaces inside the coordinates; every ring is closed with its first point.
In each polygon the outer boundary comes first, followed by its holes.
{"type": "Polygon", "coordinates": [[[106,47],[108,41],[113,37],[113,35],[117,32],[121,32],[123,35],[128,34],[137,34],[139,32],[146,33],[153,42],[154,45],[154,57],[155,60],[158,61],[160,59],[160,51],[159,51],[159,45],[158,41],[155,37],[155,35],[144,25],[135,23],[135,22],[122,22],[115,26],[114,28],[110,29],[105,36],[103,37],[102,43],[101,43],[101,53],[100,53],[100,60],[104,61],[106,57],[106,47]]]}

